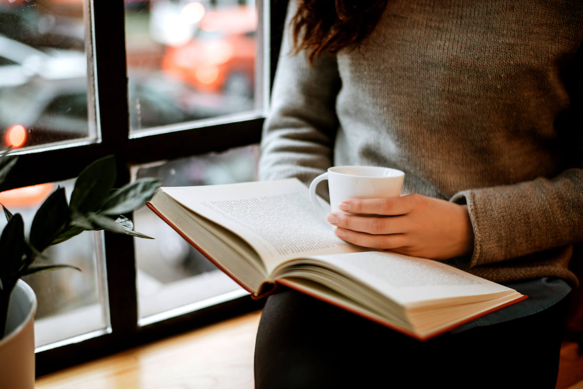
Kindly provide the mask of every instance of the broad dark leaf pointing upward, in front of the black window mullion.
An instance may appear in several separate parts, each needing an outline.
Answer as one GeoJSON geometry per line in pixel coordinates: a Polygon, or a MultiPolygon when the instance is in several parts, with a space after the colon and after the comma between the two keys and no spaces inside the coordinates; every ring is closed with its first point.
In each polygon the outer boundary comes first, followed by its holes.
{"type": "Polygon", "coordinates": [[[99,211],[115,184],[115,158],[96,160],[79,174],[71,193],[71,209],[80,213],[99,211]]]}

